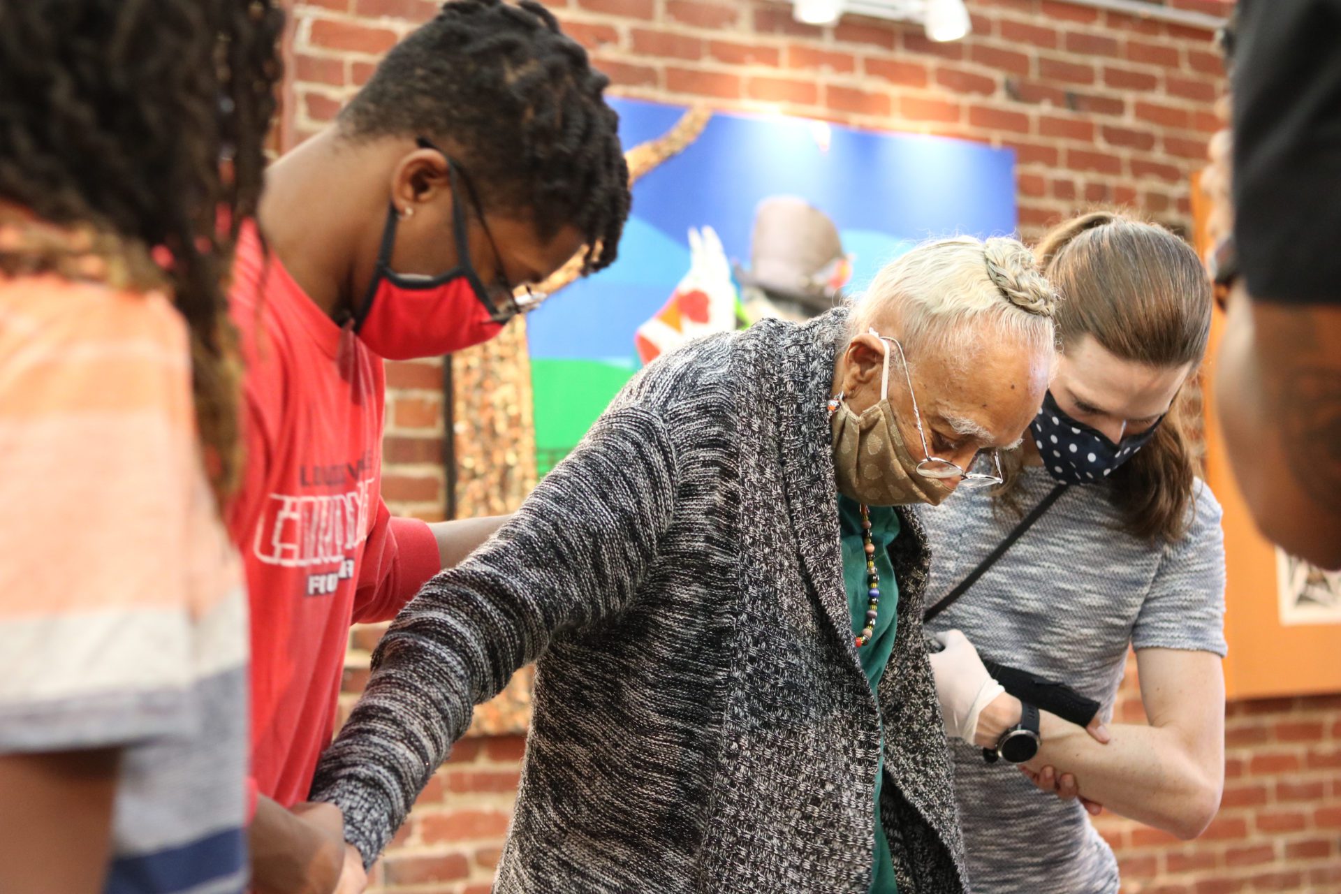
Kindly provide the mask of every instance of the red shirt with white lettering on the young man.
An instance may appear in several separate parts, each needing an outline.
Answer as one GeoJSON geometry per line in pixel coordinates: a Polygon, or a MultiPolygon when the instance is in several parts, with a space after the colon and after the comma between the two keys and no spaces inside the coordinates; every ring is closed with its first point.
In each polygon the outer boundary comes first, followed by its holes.
{"type": "Polygon", "coordinates": [[[290,807],[334,732],[350,623],[394,617],[439,554],[426,524],[382,503],[381,358],[263,255],[251,225],[231,306],[247,363],[247,470],[228,527],[251,596],[252,781],[290,807]]]}

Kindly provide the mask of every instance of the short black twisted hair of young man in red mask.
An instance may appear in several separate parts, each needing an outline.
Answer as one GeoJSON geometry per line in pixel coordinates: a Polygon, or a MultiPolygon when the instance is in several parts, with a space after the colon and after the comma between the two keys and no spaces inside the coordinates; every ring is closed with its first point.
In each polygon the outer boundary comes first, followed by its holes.
{"type": "Polygon", "coordinates": [[[452,0],[386,54],[341,126],[453,146],[491,209],[534,213],[540,239],[577,228],[587,273],[614,261],[629,216],[609,83],[540,4],[452,0]]]}

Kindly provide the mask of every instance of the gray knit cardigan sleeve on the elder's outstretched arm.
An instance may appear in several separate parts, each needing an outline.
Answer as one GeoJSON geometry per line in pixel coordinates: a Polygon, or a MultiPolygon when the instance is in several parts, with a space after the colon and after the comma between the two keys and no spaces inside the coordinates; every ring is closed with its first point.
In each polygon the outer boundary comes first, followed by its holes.
{"type": "Polygon", "coordinates": [[[312,799],[345,814],[366,863],[471,722],[473,705],[555,633],[625,607],[670,524],[675,449],[661,418],[613,409],[465,563],[424,584],[373,654],[373,676],[322,756],[312,799]]]}

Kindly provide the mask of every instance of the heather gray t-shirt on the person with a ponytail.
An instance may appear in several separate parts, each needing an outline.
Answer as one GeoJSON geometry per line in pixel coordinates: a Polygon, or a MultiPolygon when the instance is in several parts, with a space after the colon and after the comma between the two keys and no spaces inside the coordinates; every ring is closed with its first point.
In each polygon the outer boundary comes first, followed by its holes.
{"type": "MultiPolygon", "coordinates": [[[[1055,481],[1023,472],[1027,512],[1055,481]]],[[[986,658],[1066,682],[1112,718],[1128,643],[1224,655],[1220,505],[1202,481],[1185,539],[1152,546],[1125,533],[1106,485],[1073,487],[951,609],[986,658]]],[[[955,587],[1018,524],[983,491],[957,491],[921,512],[932,548],[927,604],[955,587]]],[[[1116,894],[1117,860],[1080,802],[1038,791],[1010,764],[951,743],[974,890],[1116,894]]]]}

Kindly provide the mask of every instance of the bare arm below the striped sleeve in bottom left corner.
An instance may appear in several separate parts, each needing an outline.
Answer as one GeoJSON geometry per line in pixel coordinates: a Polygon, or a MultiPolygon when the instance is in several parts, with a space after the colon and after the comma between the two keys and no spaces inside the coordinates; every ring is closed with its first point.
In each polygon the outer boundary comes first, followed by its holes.
{"type": "Polygon", "coordinates": [[[117,768],[115,749],[0,756],[0,891],[103,890],[117,768]]]}

